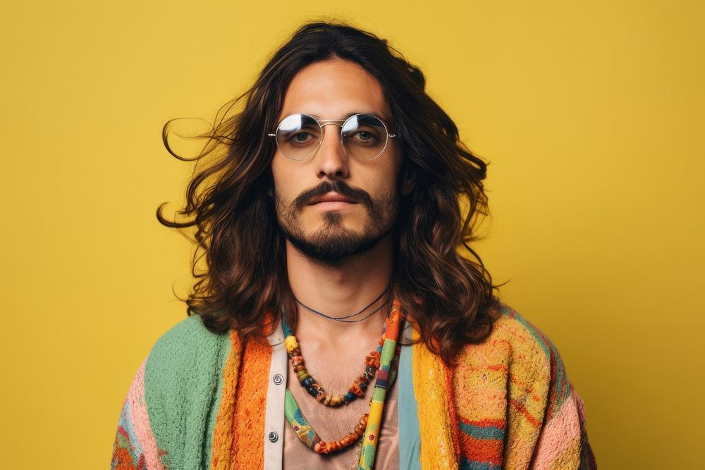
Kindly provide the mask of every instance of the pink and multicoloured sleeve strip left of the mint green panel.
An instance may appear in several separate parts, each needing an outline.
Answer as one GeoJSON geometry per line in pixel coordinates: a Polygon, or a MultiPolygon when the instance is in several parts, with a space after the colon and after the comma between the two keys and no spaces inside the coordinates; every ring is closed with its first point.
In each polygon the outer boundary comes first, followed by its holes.
{"type": "Polygon", "coordinates": [[[145,364],[137,370],[118,421],[111,470],[162,470],[145,402],[145,364]]]}

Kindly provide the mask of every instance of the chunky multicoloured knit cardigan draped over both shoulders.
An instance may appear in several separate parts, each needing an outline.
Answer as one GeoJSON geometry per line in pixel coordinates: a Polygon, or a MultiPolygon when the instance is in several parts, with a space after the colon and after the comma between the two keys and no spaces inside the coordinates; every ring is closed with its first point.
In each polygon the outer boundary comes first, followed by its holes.
{"type": "MultiPolygon", "coordinates": [[[[556,348],[510,307],[453,368],[423,342],[408,348],[421,468],[596,469],[556,348]]],[[[178,323],[137,371],[112,469],[262,468],[270,359],[269,345],[210,333],[198,316],[178,323]]]]}

